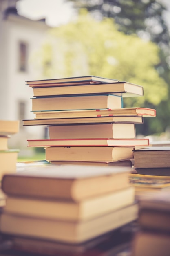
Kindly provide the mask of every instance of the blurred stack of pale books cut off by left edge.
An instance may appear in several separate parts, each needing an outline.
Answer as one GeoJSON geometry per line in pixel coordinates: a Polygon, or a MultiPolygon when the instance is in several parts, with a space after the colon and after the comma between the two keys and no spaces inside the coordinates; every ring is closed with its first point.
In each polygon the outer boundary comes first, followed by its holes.
{"type": "MultiPolygon", "coordinates": [[[[16,172],[17,149],[9,149],[10,136],[19,131],[19,121],[0,120],[0,182],[5,173],[16,172]]],[[[0,207],[4,206],[5,197],[0,189],[0,207]]]]}

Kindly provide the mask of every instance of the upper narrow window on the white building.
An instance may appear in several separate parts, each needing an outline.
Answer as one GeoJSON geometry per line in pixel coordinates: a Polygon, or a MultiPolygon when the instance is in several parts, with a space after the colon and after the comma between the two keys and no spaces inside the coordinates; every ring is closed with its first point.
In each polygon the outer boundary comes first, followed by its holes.
{"type": "Polygon", "coordinates": [[[28,45],[24,42],[19,43],[19,70],[27,70],[27,55],[28,55],[28,45]]]}

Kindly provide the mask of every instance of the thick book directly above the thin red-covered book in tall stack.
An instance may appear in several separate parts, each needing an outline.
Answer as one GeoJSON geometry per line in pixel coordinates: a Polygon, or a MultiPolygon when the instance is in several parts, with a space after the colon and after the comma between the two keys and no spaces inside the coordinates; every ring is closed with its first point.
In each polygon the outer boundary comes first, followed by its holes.
{"type": "Polygon", "coordinates": [[[79,124],[48,126],[50,139],[69,138],[135,138],[135,124],[79,124]]]}

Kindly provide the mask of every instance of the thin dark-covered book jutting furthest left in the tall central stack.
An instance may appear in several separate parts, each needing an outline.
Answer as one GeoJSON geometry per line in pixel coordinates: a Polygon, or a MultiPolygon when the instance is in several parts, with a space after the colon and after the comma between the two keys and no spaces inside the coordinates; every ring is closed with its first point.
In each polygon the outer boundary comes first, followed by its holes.
{"type": "Polygon", "coordinates": [[[28,125],[55,125],[55,124],[112,124],[112,123],[142,124],[141,116],[117,116],[117,117],[82,117],[82,118],[43,118],[23,120],[23,126],[28,125]]]}

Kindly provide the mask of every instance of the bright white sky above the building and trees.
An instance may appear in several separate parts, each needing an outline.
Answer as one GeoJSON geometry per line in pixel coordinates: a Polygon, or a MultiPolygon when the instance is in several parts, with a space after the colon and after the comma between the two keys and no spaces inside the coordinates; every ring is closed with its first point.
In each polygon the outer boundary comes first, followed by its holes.
{"type": "MultiPolygon", "coordinates": [[[[170,0],[160,1],[169,9],[165,18],[170,28],[170,0]]],[[[76,15],[73,2],[66,0],[19,0],[17,9],[20,15],[33,20],[46,18],[46,24],[51,27],[66,24],[76,15]]]]}

